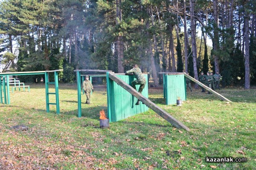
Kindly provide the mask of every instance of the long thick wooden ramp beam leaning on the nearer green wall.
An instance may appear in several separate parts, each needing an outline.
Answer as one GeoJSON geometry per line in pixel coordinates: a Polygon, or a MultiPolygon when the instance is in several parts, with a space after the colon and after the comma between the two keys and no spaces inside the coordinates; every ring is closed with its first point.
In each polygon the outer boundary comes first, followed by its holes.
{"type": "Polygon", "coordinates": [[[128,91],[131,95],[135,96],[137,99],[142,101],[148,108],[151,108],[153,111],[155,111],[159,116],[163,117],[163,119],[166,119],[169,123],[171,123],[174,127],[177,128],[183,128],[187,131],[190,131],[188,127],[183,125],[180,121],[172,117],[169,113],[158,107],[156,104],[151,102],[151,100],[145,98],[142,94],[137,92],[134,88],[132,88],[130,85],[128,85],[126,82],[124,82],[122,79],[117,77],[114,73],[109,73],[108,77],[112,79],[114,82],[116,82],[118,85],[120,85],[122,88],[124,88],[126,91],[128,91]]]}

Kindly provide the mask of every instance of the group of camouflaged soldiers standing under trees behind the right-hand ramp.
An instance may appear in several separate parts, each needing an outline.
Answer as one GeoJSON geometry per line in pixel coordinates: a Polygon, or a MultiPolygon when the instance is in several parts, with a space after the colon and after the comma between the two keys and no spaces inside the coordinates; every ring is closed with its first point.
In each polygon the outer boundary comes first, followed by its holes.
{"type": "MultiPolygon", "coordinates": [[[[207,72],[207,75],[204,75],[204,72],[201,72],[201,75],[198,77],[199,82],[203,83],[204,85],[208,86],[212,90],[215,89],[221,89],[220,88],[220,80],[221,80],[221,75],[216,72],[216,74],[212,75],[212,72],[207,72]]],[[[186,84],[189,86],[190,91],[192,91],[192,87],[190,84],[190,79],[186,78],[186,84]]],[[[205,92],[205,89],[203,87],[202,92],[205,92]]],[[[211,94],[208,92],[208,94],[211,94]]]]}

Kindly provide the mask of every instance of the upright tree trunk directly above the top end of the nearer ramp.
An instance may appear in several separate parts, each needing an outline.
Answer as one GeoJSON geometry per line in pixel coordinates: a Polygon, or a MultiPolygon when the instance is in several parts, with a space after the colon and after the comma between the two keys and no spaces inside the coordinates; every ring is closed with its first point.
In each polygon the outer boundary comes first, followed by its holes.
{"type": "MultiPolygon", "coordinates": [[[[119,25],[119,22],[121,21],[122,21],[121,0],[116,0],[116,25],[119,25]]],[[[125,68],[122,65],[122,62],[124,59],[124,44],[123,44],[123,37],[121,34],[119,34],[119,36],[117,37],[116,47],[117,47],[118,73],[124,73],[125,68]]]]}

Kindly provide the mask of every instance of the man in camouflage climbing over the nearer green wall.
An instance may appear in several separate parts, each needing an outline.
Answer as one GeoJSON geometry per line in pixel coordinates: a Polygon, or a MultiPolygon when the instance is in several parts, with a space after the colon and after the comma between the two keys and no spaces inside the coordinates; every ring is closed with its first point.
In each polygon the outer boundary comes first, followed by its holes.
{"type": "MultiPolygon", "coordinates": [[[[139,93],[141,94],[143,91],[143,88],[145,88],[146,85],[146,79],[143,76],[139,66],[137,64],[134,65],[134,67],[131,70],[126,71],[126,75],[129,73],[133,73],[136,80],[131,82],[131,86],[136,90],[136,86],[135,85],[140,85],[139,88],[139,93]]],[[[137,103],[135,105],[140,105],[140,100],[138,99],[137,103]]]]}

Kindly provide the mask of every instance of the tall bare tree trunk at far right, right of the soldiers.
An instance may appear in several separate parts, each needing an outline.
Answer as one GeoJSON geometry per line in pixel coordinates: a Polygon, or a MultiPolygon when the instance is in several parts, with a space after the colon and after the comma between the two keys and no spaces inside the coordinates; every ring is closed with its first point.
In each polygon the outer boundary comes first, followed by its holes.
{"type": "Polygon", "coordinates": [[[250,56],[249,56],[249,17],[250,15],[245,10],[244,16],[244,46],[245,46],[245,57],[244,57],[244,67],[245,67],[245,76],[244,76],[244,88],[250,88],[250,56]]]}

